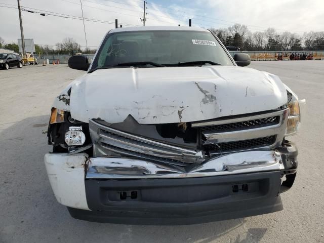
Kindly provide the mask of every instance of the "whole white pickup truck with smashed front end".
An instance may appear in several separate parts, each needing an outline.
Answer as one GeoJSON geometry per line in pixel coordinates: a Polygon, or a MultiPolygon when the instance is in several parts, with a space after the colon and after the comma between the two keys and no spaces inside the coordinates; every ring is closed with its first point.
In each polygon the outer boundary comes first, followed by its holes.
{"type": "Polygon", "coordinates": [[[294,183],[305,100],[243,67],[209,30],[110,30],[52,106],[45,155],[77,219],[192,224],[282,210],[294,183]]]}

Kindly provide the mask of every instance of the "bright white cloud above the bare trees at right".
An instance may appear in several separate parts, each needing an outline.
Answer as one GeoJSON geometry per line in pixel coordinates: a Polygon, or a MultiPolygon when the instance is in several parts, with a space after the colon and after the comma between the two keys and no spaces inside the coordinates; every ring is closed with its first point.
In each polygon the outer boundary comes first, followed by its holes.
{"type": "Polygon", "coordinates": [[[200,6],[209,9],[215,27],[226,27],[233,23],[248,25],[252,31],[273,27],[279,31],[306,32],[323,31],[322,0],[199,0],[200,6]],[[229,22],[226,22],[229,21],[229,22]]]}

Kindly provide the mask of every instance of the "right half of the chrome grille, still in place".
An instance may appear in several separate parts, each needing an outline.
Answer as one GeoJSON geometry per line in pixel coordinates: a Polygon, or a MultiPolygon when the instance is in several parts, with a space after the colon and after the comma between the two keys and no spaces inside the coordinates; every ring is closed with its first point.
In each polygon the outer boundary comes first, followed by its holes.
{"type": "Polygon", "coordinates": [[[201,129],[204,151],[228,153],[255,148],[275,148],[284,139],[288,109],[260,115],[202,121],[192,127],[201,129]]]}

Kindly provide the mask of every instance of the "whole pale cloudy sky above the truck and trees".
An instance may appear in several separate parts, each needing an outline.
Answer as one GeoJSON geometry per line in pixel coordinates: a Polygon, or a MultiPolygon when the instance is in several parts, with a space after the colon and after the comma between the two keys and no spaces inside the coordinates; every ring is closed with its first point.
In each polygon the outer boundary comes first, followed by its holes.
{"type": "MultiPolygon", "coordinates": [[[[194,26],[228,27],[234,23],[245,24],[251,31],[263,31],[273,27],[303,34],[305,31],[324,31],[324,0],[147,0],[146,25],[187,25],[192,18],[194,26]]],[[[21,6],[33,8],[38,13],[22,12],[25,38],[33,38],[35,44],[52,45],[64,37],[73,37],[85,46],[80,0],[21,0],[21,6]],[[44,11],[60,13],[72,18],[41,16],[44,11]]],[[[96,48],[104,34],[119,24],[142,25],[143,1],[139,0],[82,0],[84,17],[109,21],[98,23],[86,21],[88,46],[96,48]]],[[[19,17],[16,0],[0,0],[0,36],[7,43],[20,38],[19,17]],[[6,4],[6,5],[5,5],[6,4]],[[14,7],[4,8],[1,6],[14,7]]]]}

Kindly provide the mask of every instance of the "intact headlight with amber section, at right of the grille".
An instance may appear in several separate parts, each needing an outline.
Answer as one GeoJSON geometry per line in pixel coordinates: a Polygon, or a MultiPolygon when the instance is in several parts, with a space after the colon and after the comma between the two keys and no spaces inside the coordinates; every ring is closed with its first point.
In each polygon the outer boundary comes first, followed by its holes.
{"type": "Polygon", "coordinates": [[[288,116],[288,124],[285,136],[295,135],[301,124],[301,107],[306,104],[306,100],[293,101],[288,104],[289,107],[289,116],[288,116]]]}

